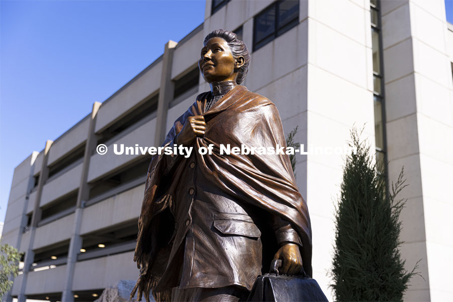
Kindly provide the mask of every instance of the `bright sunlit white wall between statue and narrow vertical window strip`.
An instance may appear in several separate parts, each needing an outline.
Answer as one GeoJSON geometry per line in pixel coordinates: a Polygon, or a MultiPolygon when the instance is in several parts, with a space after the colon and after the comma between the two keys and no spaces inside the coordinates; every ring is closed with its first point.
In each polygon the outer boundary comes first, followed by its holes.
{"type": "MultiPolygon", "coordinates": [[[[303,102],[300,108],[306,110],[299,115],[297,124],[292,124],[299,125],[298,131],[302,134],[299,141],[316,147],[342,147],[350,139],[349,130],[354,124],[358,128],[365,125],[362,138],[367,138],[374,150],[369,2],[366,6],[364,2],[346,0],[301,1],[299,20],[299,30],[307,31],[307,35],[302,36],[307,42],[301,45],[306,45],[308,52],[307,68],[300,68],[303,80],[300,83],[306,83],[306,91],[296,85],[290,88],[300,89],[299,99],[303,102]],[[347,22],[344,16],[348,16],[347,22]]],[[[302,53],[303,49],[297,50],[302,53]]],[[[255,57],[253,60],[257,64],[255,57]]],[[[285,123],[291,125],[283,121],[283,127],[285,123]]],[[[292,125],[285,128],[286,131],[292,129],[292,125]]],[[[344,156],[309,154],[305,162],[304,157],[300,159],[297,177],[306,182],[305,188],[302,183],[300,192],[304,195],[306,190],[313,230],[313,277],[329,300],[333,300],[329,287],[332,280],[327,272],[332,266],[334,202],[340,195],[344,156]]]]}

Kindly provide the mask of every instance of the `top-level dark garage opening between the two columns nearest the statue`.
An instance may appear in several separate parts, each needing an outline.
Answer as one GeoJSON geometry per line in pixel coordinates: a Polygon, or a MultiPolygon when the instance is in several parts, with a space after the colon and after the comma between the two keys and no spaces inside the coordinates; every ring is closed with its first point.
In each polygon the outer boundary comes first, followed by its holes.
{"type": "Polygon", "coordinates": [[[141,106],[132,110],[126,116],[98,134],[98,144],[105,143],[132,125],[143,120],[157,110],[159,95],[145,101],[141,106]]]}

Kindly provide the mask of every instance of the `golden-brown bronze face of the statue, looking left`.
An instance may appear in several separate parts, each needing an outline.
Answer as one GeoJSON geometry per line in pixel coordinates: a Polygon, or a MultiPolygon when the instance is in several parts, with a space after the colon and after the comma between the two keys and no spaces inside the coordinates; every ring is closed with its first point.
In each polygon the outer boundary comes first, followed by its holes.
{"type": "Polygon", "coordinates": [[[198,67],[207,83],[236,81],[238,66],[228,43],[222,38],[211,38],[201,48],[198,67]]]}

